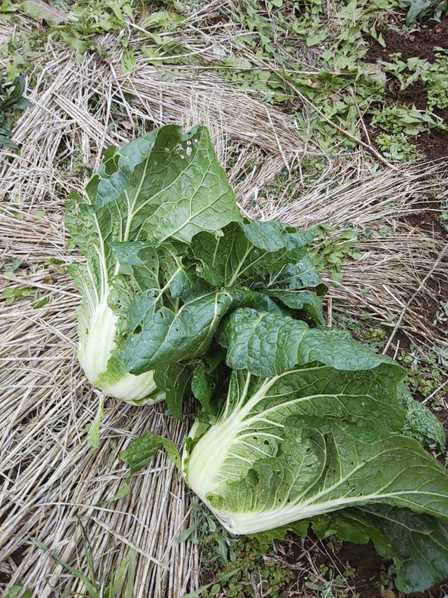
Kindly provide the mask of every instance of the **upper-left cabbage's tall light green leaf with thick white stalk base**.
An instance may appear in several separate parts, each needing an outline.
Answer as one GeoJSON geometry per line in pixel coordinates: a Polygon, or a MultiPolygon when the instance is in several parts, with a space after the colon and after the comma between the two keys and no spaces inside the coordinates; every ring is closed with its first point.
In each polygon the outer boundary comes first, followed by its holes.
{"type": "MultiPolygon", "coordinates": [[[[190,243],[200,231],[219,233],[241,219],[235,196],[207,128],[183,134],[180,127],[167,125],[107,150],[85,197],[73,199],[66,226],[87,259],[71,268],[83,295],[78,358],[87,378],[104,393],[130,402],[151,402],[160,398],[155,395],[153,372],[129,374],[120,355],[128,326],[119,296],[123,294],[123,305],[129,304],[132,290],[119,273],[114,247],[142,241],[190,243]]],[[[164,259],[162,252],[160,261],[164,259]]]]}

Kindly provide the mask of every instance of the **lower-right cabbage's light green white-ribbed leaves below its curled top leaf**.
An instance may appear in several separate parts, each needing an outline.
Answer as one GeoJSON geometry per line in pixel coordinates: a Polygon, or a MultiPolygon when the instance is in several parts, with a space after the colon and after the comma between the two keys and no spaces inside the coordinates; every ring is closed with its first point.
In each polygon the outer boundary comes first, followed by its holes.
{"type": "Polygon", "coordinates": [[[447,471],[401,435],[397,372],[359,368],[233,372],[218,418],[193,425],[183,455],[188,485],[229,531],[372,503],[448,522],[447,471]]]}

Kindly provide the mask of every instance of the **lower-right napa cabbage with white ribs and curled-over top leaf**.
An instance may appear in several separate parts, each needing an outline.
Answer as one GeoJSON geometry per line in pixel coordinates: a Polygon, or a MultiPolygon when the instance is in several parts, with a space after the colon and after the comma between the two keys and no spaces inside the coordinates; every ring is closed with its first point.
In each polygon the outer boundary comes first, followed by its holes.
{"type": "MultiPolygon", "coordinates": [[[[402,566],[399,583],[419,588],[416,559],[409,544],[400,547],[398,529],[408,525],[405,539],[416,545],[442,541],[448,474],[416,440],[404,370],[346,334],[246,308],[228,318],[220,340],[235,371],[218,416],[201,416],[190,431],[188,485],[235,534],[294,522],[303,531],[322,517],[334,527],[344,513],[363,513],[368,538],[380,548],[386,538],[379,552],[402,566]]],[[[434,426],[419,440],[441,440],[439,432],[434,426]]],[[[356,526],[342,534],[355,536],[356,526]]],[[[432,571],[422,566],[426,587],[446,573],[441,559],[432,571]]]]}

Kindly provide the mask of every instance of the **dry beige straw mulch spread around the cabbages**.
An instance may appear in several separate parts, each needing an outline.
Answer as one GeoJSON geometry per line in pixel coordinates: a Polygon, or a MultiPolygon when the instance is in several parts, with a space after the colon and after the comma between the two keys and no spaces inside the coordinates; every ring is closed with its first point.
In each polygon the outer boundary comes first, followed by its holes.
{"type": "Polygon", "coordinates": [[[437,337],[412,307],[431,293],[421,284],[428,273],[448,278],[447,262],[437,261],[444,241],[402,220],[437,186],[434,172],[372,170],[362,154],[351,161],[333,156],[331,187],[329,176],[312,186],[295,177],[282,197],[261,199],[277,173],[316,151],[288,116],[211,76],[167,81],[144,60],[123,76],[119,64],[119,56],[109,63],[95,55],[78,64],[70,50],[49,41],[38,84],[29,90],[31,107],[15,133],[22,151],[0,154],[1,254],[22,264],[15,278],[3,276],[2,285],[31,289],[0,313],[0,592],[17,583],[39,598],[66,587],[83,592],[82,583],[31,542],[87,571],[78,519],[92,543],[98,577],[118,569],[130,548],[137,550],[136,597],[177,598],[199,580],[197,548],[177,542],[190,524],[190,496],[164,454],[134,477],[129,496],[104,502],[123,485],[127,471],[119,454],[133,437],[151,428],[180,444],[187,425],[164,417],[163,405],[108,400],[100,449],[86,442],[98,397],[75,355],[79,297],[65,266],[78,257],[64,249],[64,202],[69,191],[83,188],[80,165],[96,166],[110,144],[139,135],[143,126],[211,126],[244,212],[300,226],[343,229],[352,222],[374,231],[360,246],[363,259],[347,264],[344,285],[331,287],[330,297],[391,325],[405,308],[408,332],[437,337]]]}

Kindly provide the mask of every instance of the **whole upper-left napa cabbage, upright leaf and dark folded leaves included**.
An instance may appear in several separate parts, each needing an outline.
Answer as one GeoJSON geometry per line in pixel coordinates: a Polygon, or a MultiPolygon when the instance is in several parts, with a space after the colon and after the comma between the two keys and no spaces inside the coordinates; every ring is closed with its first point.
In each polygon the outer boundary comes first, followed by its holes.
{"type": "Polygon", "coordinates": [[[87,257],[71,268],[78,357],[108,395],[165,397],[181,417],[192,389],[213,412],[225,372],[211,344],[225,315],[250,306],[325,321],[312,234],[243,219],[203,127],[169,125],[108,150],[66,224],[87,257]]]}

